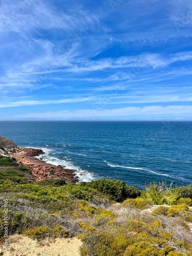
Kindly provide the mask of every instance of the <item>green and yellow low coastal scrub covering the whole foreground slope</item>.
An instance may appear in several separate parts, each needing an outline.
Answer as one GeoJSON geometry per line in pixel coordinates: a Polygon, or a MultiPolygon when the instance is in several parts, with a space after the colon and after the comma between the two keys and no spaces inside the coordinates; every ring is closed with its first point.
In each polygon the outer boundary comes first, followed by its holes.
{"type": "Polygon", "coordinates": [[[191,255],[191,185],[150,183],[140,191],[117,180],[73,185],[30,177],[28,168],[0,157],[1,242],[8,199],[9,235],[76,236],[81,256],[191,255]]]}

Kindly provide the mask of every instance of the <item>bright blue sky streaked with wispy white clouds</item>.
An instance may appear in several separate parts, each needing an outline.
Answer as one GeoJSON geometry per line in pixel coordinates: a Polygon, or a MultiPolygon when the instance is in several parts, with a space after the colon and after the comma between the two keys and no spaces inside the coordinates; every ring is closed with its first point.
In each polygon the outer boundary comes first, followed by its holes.
{"type": "Polygon", "coordinates": [[[191,0],[2,0],[0,120],[192,120],[191,0]]]}

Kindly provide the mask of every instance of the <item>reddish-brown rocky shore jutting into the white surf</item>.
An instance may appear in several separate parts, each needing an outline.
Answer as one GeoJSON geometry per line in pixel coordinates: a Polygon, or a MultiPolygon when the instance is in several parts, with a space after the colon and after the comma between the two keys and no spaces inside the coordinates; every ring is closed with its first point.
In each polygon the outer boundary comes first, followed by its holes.
{"type": "Polygon", "coordinates": [[[15,158],[20,165],[25,165],[31,170],[35,181],[44,179],[64,179],[69,183],[78,182],[76,170],[68,169],[65,166],[45,163],[35,158],[45,154],[38,148],[27,148],[16,145],[12,140],[0,137],[0,155],[15,158]]]}

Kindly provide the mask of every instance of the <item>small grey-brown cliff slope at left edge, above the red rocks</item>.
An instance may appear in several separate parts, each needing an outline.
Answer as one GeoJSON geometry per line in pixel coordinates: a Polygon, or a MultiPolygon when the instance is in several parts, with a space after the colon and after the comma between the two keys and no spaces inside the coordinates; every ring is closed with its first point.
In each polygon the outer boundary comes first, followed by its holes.
{"type": "Polygon", "coordinates": [[[10,157],[12,154],[18,153],[19,151],[19,147],[12,140],[3,136],[0,137],[0,155],[10,157]]]}

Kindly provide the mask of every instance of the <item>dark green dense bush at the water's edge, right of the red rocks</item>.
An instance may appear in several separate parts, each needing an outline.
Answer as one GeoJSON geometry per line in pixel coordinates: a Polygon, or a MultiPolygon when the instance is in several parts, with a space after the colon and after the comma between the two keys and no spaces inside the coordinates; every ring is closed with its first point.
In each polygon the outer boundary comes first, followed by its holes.
{"type": "Polygon", "coordinates": [[[136,198],[141,195],[138,188],[127,186],[124,181],[100,179],[91,182],[81,182],[82,187],[91,187],[97,189],[102,194],[111,199],[121,202],[126,198],[136,198]]]}

